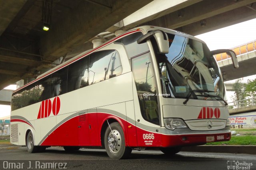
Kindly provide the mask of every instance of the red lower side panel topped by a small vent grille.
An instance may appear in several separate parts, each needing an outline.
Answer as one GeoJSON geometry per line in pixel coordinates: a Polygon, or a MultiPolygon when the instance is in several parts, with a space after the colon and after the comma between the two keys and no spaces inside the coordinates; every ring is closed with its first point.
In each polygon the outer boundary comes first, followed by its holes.
{"type": "Polygon", "coordinates": [[[79,146],[89,146],[89,127],[88,127],[88,114],[87,110],[78,113],[78,144],[79,146]]]}

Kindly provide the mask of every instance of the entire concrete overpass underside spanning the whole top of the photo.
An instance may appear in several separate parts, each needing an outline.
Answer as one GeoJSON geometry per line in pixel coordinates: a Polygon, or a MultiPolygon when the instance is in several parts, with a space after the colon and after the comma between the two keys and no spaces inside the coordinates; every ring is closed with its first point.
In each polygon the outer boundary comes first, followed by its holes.
{"type": "Polygon", "coordinates": [[[43,2],[51,0],[0,0],[0,89],[34,79],[116,30],[150,24],[198,35],[256,18],[256,0],[53,0],[43,32],[43,2]]]}

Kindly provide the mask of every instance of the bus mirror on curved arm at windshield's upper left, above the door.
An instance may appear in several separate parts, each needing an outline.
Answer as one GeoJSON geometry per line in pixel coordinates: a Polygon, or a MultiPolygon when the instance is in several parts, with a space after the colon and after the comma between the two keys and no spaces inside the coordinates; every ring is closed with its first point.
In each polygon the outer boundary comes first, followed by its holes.
{"type": "Polygon", "coordinates": [[[168,36],[165,32],[161,30],[155,30],[155,31],[150,31],[147,34],[143,35],[137,40],[137,43],[144,43],[148,39],[154,37],[159,49],[159,52],[162,54],[167,54],[169,53],[169,42],[168,42],[168,36]]]}

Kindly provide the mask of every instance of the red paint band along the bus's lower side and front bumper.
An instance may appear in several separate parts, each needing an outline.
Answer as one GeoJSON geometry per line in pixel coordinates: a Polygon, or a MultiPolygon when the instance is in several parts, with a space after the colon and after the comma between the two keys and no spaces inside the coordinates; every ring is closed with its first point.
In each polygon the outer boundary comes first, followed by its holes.
{"type": "Polygon", "coordinates": [[[214,136],[215,142],[228,141],[230,140],[231,136],[230,132],[218,134],[207,133],[167,135],[150,132],[139,127],[136,128],[135,125],[130,124],[126,120],[108,113],[87,114],[88,120],[86,119],[84,124],[79,121],[79,116],[75,116],[72,119],[69,119],[57,127],[50,135],[48,135],[42,142],[41,146],[101,146],[100,135],[102,125],[104,120],[111,118],[115,118],[123,128],[126,146],[130,147],[172,147],[201,145],[206,143],[206,136],[214,136]],[[89,129],[87,125],[90,125],[91,129],[89,129]],[[131,128],[128,128],[128,126],[131,126],[131,128]],[[132,131],[128,131],[128,129],[132,131]],[[93,132],[91,130],[93,130],[93,132]],[[223,135],[224,138],[221,140],[218,139],[217,136],[219,135],[223,135]]]}

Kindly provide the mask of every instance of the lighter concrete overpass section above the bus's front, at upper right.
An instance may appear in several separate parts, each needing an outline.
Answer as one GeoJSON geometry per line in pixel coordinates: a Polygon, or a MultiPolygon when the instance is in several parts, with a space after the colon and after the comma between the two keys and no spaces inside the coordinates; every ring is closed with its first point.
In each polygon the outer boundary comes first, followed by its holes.
{"type": "Polygon", "coordinates": [[[196,36],[256,18],[255,0],[154,0],[114,26],[160,26],[196,36]]]}

